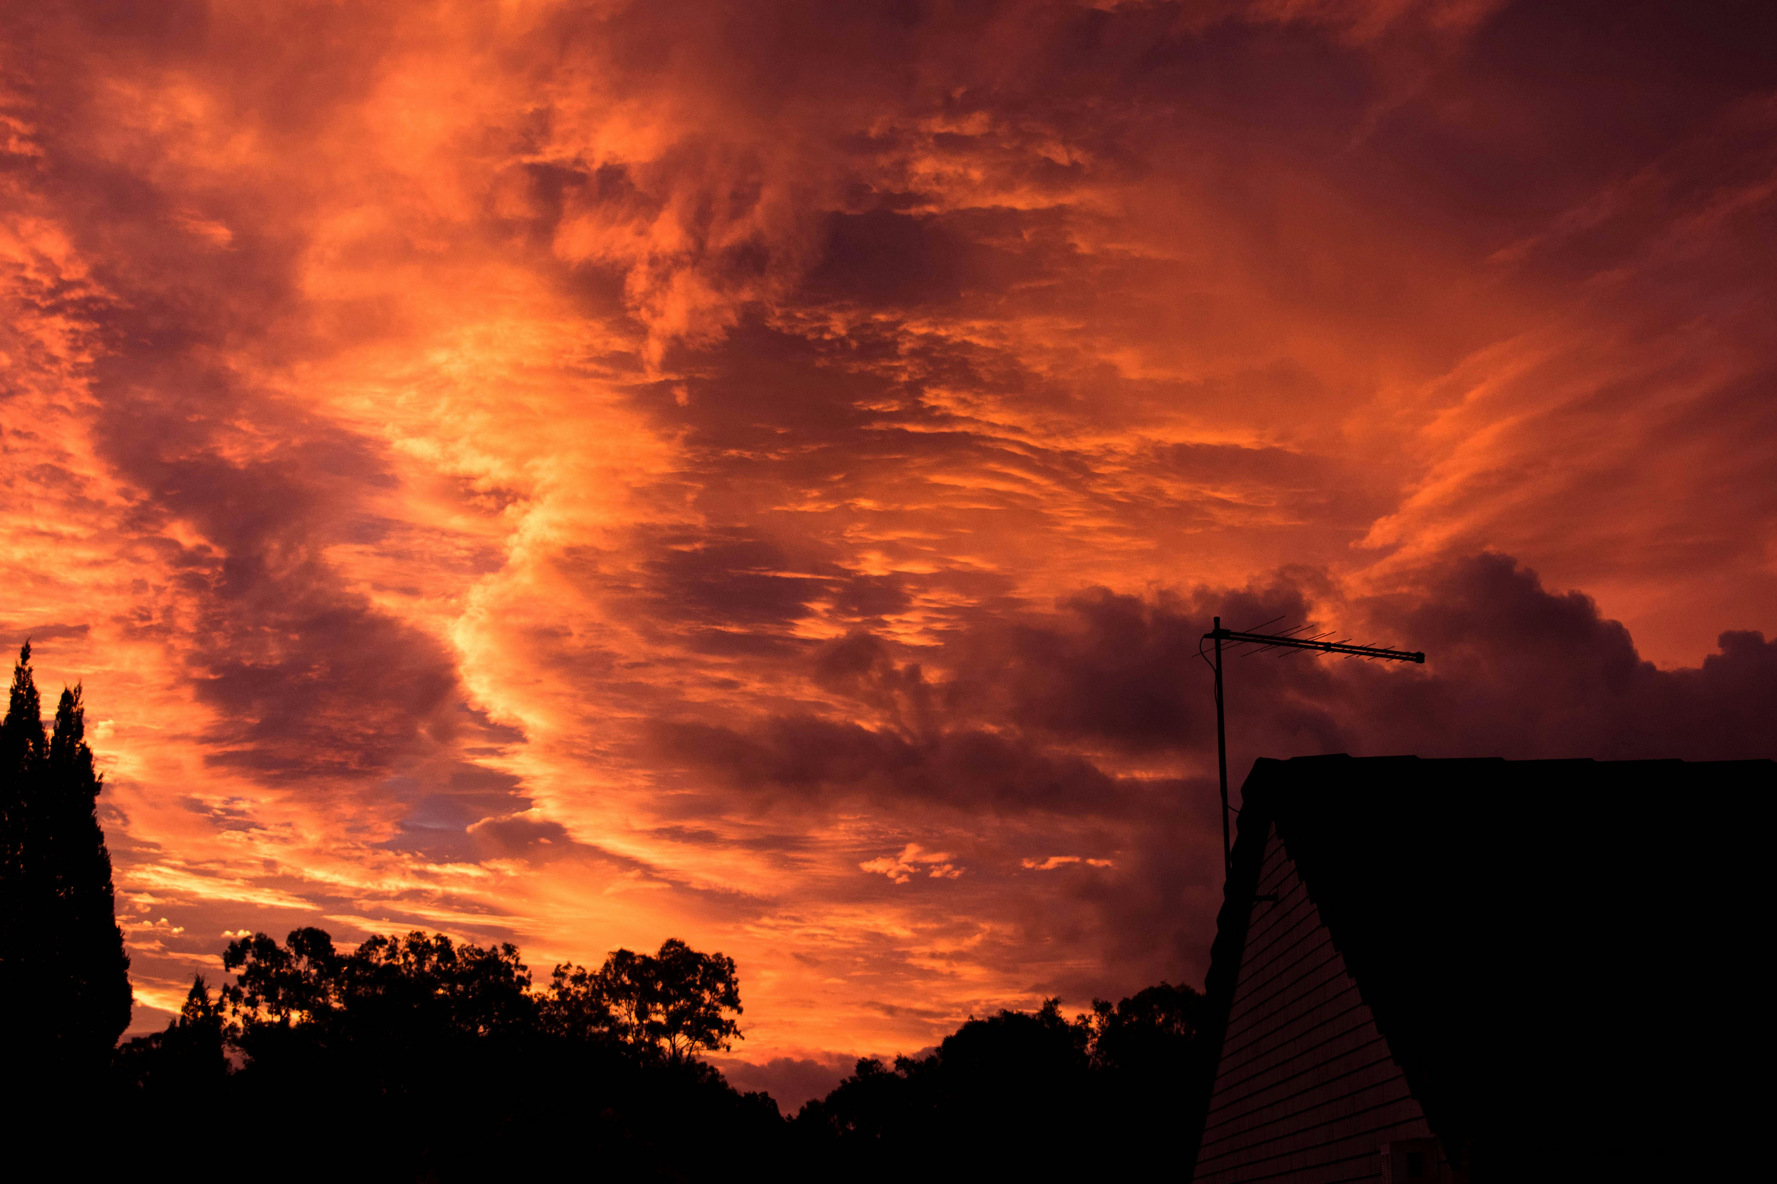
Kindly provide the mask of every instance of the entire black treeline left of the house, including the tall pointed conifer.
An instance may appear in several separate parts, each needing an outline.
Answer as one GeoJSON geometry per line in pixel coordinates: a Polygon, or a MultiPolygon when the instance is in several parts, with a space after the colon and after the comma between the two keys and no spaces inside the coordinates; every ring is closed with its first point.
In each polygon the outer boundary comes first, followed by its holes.
{"type": "Polygon", "coordinates": [[[229,982],[195,976],[163,1031],[119,1047],[130,962],[100,790],[80,687],[44,730],[27,644],[0,721],[7,1166],[434,1182],[1189,1172],[1205,1001],[1167,983],[1073,1019],[1057,999],[968,1019],[922,1056],[860,1060],[794,1117],[698,1060],[741,1038],[739,976],[677,939],[538,983],[510,944],[254,934],[224,951],[229,982]]]}

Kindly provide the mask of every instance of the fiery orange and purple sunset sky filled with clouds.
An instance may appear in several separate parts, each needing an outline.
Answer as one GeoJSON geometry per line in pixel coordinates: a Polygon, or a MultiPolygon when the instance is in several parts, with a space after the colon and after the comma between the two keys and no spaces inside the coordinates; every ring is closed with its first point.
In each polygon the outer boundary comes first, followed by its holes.
{"type": "Polygon", "coordinates": [[[1752,4],[0,2],[0,641],[247,932],[1199,985],[1256,756],[1777,756],[1752,4]],[[1772,637],[1770,641],[1766,637],[1772,637]]]}

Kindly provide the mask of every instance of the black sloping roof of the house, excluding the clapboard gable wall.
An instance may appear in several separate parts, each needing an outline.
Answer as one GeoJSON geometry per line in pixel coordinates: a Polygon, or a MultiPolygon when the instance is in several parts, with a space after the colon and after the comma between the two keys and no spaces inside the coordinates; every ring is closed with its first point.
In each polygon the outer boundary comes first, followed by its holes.
{"type": "Polygon", "coordinates": [[[1756,1010],[1773,790],[1768,760],[1260,760],[1212,1014],[1226,1024],[1274,825],[1446,1147],[1478,1166],[1514,1133],[1644,1138],[1653,1109],[1670,1129],[1701,1097],[1677,1077],[1717,1069],[1756,1010]]]}

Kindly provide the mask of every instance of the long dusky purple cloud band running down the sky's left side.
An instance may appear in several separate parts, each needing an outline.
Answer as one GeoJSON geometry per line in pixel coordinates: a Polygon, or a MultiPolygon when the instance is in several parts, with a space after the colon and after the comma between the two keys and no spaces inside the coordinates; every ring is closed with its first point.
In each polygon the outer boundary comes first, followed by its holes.
{"type": "MultiPolygon", "coordinates": [[[[172,59],[201,55],[215,30],[199,7],[179,12],[96,20],[91,34],[123,59],[147,43],[172,59]]],[[[75,51],[59,39],[66,32],[39,30],[44,53],[64,55],[71,73],[41,75],[30,112],[73,149],[101,130],[84,115],[100,87],[78,78],[117,62],[75,51]]],[[[300,94],[352,101],[368,59],[322,53],[322,41],[286,46],[254,85],[275,96],[288,69],[300,94]]],[[[291,98],[258,108],[259,126],[299,135],[329,117],[291,98]]],[[[284,783],[387,770],[446,738],[460,699],[446,648],[347,591],[348,577],[323,557],[336,543],[389,541],[393,524],[366,499],[394,481],[377,446],[222,362],[240,334],[263,334],[297,298],[295,245],[256,234],[263,224],[231,204],[238,197],[219,192],[194,208],[130,163],[62,151],[34,163],[34,185],[100,261],[107,295],[89,314],[112,350],[91,367],[94,440],[137,499],[133,538],[121,545],[169,563],[171,586],[144,596],[135,632],[183,648],[199,698],[219,712],[206,738],[215,763],[284,783]],[[174,543],[181,531],[201,541],[174,543]],[[185,602],[192,634],[176,635],[167,612],[149,609],[155,600],[185,602]]]]}

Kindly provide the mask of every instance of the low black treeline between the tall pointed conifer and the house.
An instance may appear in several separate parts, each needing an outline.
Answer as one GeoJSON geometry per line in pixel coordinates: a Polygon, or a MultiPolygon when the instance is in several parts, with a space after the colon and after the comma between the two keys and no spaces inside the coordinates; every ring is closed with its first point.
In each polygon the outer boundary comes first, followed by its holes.
{"type": "MultiPolygon", "coordinates": [[[[528,1170],[702,1180],[743,1164],[782,1179],[1061,1179],[1185,1154],[1207,1086],[1203,998],[1160,983],[1066,1019],[970,1019],[924,1056],[860,1060],[787,1118],[700,1051],[739,1037],[730,959],[666,941],[547,985],[510,944],[318,928],[233,943],[235,982],[194,980],[165,1031],[117,1053],[140,1133],[204,1124],[325,1143],[338,1172],[471,1180],[528,1170]]],[[[1175,1163],[1176,1168],[1185,1164],[1175,1163]]],[[[315,1164],[267,1163],[265,1177],[315,1164]]]]}

